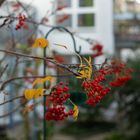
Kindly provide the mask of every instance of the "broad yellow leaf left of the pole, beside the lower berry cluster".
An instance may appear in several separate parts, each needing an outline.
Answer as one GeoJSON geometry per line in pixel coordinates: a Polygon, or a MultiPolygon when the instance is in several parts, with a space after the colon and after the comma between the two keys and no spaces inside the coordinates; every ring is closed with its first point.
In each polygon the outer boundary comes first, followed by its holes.
{"type": "Polygon", "coordinates": [[[24,91],[24,97],[27,100],[31,100],[33,98],[39,98],[44,95],[45,89],[26,89],[24,91]]]}

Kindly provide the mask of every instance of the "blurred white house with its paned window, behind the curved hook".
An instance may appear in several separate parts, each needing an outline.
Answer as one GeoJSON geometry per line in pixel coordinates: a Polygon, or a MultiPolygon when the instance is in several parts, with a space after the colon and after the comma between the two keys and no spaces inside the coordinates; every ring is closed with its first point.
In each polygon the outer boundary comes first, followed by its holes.
{"type": "MultiPolygon", "coordinates": [[[[85,39],[93,39],[104,46],[106,54],[114,53],[113,38],[113,1],[112,0],[55,0],[55,7],[65,7],[57,12],[52,19],[53,25],[64,26],[85,39]],[[67,20],[60,22],[63,16],[67,20]]],[[[91,54],[91,46],[75,36],[77,50],[82,47],[81,54],[91,54]]],[[[55,32],[50,40],[66,45],[71,51],[53,45],[55,51],[61,54],[72,54],[73,43],[69,35],[55,32]]],[[[104,58],[102,59],[104,60],[104,58]]],[[[102,61],[100,61],[101,63],[102,61]]]]}

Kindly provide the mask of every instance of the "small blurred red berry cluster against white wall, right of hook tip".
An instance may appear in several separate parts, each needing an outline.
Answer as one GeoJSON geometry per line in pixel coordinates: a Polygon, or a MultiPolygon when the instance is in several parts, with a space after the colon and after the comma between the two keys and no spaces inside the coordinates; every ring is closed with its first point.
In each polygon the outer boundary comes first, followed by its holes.
{"type": "Polygon", "coordinates": [[[103,46],[100,45],[100,44],[94,45],[92,50],[94,52],[94,54],[92,55],[93,57],[97,57],[97,56],[103,55],[103,46]]]}

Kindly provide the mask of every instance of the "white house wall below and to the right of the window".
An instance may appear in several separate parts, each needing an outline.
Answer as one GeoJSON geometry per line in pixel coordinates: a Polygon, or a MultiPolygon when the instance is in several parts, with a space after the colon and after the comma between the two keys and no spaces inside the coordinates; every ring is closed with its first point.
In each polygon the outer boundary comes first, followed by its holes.
{"type": "MultiPolygon", "coordinates": [[[[73,1],[74,2],[74,1],[73,1]]],[[[87,9],[88,10],[88,9],[87,9]]],[[[113,37],[113,2],[112,0],[95,0],[95,7],[93,8],[95,11],[95,28],[75,28],[74,32],[83,38],[91,38],[100,42],[105,49],[107,54],[114,53],[114,37],[113,37]]],[[[71,11],[75,12],[75,11],[71,11]]],[[[82,46],[82,54],[90,54],[91,46],[83,40],[76,38],[77,48],[79,45],[82,46]]],[[[51,42],[59,43],[66,45],[71,52],[73,52],[73,43],[71,42],[71,38],[66,35],[60,33],[56,33],[55,36],[51,35],[51,42]]],[[[70,51],[64,50],[58,46],[53,44],[52,48],[57,50],[59,53],[71,53],[70,51]]]]}

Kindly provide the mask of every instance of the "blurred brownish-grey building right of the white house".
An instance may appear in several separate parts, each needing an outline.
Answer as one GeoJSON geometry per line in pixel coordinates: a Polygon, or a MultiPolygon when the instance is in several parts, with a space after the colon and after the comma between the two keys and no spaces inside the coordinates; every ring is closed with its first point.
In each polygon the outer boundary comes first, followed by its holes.
{"type": "Polygon", "coordinates": [[[140,0],[114,0],[115,52],[133,57],[140,43],[140,0]]]}

